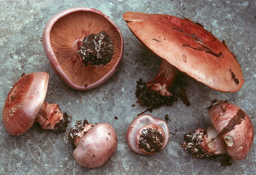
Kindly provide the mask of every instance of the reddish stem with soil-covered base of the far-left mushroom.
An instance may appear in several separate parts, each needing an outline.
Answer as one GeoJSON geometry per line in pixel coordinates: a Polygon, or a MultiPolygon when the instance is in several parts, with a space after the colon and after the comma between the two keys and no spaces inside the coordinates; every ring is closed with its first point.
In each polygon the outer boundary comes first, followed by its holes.
{"type": "Polygon", "coordinates": [[[36,117],[42,129],[51,129],[56,133],[65,132],[70,120],[71,116],[67,112],[61,112],[56,103],[46,102],[43,103],[36,117]]]}

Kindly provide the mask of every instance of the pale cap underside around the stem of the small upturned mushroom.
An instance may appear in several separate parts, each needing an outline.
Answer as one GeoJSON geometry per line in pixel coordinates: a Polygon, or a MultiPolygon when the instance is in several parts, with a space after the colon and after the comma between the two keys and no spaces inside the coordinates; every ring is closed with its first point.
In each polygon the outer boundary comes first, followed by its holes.
{"type": "Polygon", "coordinates": [[[165,134],[165,140],[162,149],[167,145],[169,140],[169,127],[167,123],[162,119],[153,117],[152,115],[141,114],[131,122],[126,132],[127,143],[134,152],[139,154],[145,154],[137,146],[136,135],[141,128],[151,124],[160,126],[163,129],[165,134]]]}

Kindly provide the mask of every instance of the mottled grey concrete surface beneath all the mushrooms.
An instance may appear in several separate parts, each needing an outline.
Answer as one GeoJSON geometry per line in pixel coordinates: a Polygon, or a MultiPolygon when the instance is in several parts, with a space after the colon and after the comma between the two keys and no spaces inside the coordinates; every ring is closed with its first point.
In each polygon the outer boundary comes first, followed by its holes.
{"type": "Polygon", "coordinates": [[[91,123],[108,122],[118,137],[114,155],[102,167],[88,169],[74,161],[73,148],[65,140],[68,131],[55,134],[34,124],[26,133],[11,136],[1,119],[0,174],[255,174],[255,142],[245,159],[232,160],[232,166],[226,167],[221,166],[221,158],[193,158],[180,147],[184,134],[210,125],[205,107],[212,99],[227,99],[241,107],[256,127],[255,7],[255,0],[0,0],[0,108],[3,109],[7,93],[23,72],[45,71],[50,74],[45,101],[57,103],[73,115],[69,128],[83,119],[91,123]],[[88,91],[73,90],[56,76],[40,41],[51,17],[77,6],[92,7],[108,15],[121,29],[125,43],[116,73],[103,85],[88,91]],[[181,14],[203,22],[218,39],[227,41],[245,78],[239,91],[222,93],[186,77],[191,106],[186,107],[179,100],[173,106],[163,106],[150,113],[162,119],[168,114],[172,118],[168,123],[170,131],[177,130],[160,153],[150,156],[134,153],[125,136],[134,117],[146,110],[136,103],[136,81],[151,80],[158,72],[160,58],[148,52],[128,29],[122,19],[126,11],[181,14]]]}

